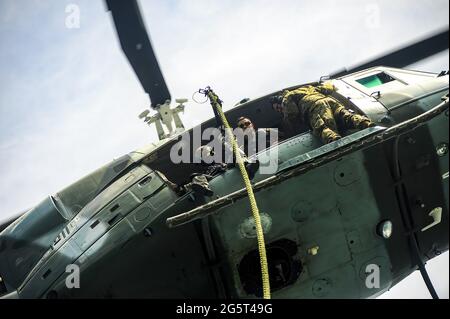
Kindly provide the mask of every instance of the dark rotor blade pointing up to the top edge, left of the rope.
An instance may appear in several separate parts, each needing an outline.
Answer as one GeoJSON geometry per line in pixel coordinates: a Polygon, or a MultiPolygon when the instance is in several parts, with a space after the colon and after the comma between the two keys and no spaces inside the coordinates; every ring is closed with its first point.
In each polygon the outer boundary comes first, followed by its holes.
{"type": "Polygon", "coordinates": [[[136,0],[106,0],[123,52],[127,56],[152,107],[171,100],[136,0]]]}

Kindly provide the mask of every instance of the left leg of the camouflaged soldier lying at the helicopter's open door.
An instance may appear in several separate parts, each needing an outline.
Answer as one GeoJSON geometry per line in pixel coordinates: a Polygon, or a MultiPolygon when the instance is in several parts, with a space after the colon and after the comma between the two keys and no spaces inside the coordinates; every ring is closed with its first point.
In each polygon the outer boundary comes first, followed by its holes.
{"type": "Polygon", "coordinates": [[[322,104],[316,105],[309,112],[309,124],[313,134],[320,137],[324,144],[341,138],[337,133],[336,122],[333,119],[331,109],[322,104]]]}

